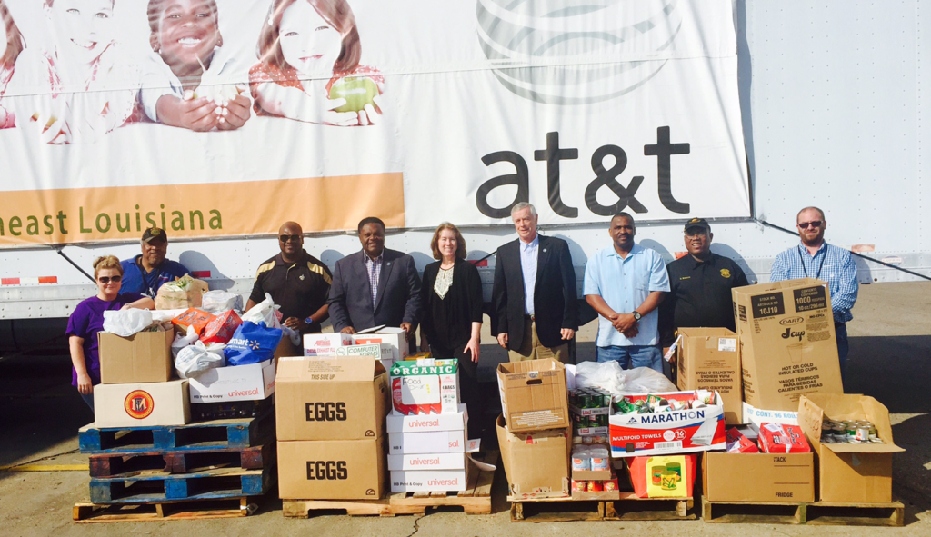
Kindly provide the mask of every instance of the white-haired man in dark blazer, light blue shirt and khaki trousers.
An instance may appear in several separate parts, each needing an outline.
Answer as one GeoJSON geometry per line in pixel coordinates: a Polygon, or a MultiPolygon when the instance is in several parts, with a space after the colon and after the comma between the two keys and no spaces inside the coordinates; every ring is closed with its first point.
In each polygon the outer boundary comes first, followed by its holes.
{"type": "Polygon", "coordinates": [[[498,248],[494,264],[492,335],[512,362],[565,361],[578,329],[575,273],[566,241],[537,235],[536,209],[511,208],[518,239],[498,248]]]}

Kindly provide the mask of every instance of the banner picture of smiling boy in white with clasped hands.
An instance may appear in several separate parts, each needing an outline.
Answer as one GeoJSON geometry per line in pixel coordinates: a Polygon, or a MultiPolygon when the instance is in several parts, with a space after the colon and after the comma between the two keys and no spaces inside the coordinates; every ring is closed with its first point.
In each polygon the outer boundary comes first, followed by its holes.
{"type": "Polygon", "coordinates": [[[141,101],[155,122],[197,131],[232,130],[250,118],[245,87],[224,84],[234,69],[223,47],[215,0],[149,0],[150,45],[141,101]]]}

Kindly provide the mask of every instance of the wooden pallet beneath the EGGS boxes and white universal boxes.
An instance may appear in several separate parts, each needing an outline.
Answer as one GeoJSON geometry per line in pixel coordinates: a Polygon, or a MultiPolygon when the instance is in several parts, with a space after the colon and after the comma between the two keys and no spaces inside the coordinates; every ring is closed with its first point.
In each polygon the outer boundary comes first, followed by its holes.
{"type": "MultiPolygon", "coordinates": [[[[489,450],[483,459],[496,463],[498,451],[489,450]]],[[[461,507],[467,515],[492,513],[494,472],[476,471],[470,475],[470,488],[461,492],[397,492],[383,500],[284,500],[285,517],[307,518],[311,511],[345,511],[351,517],[425,515],[436,507],[461,507]]]]}

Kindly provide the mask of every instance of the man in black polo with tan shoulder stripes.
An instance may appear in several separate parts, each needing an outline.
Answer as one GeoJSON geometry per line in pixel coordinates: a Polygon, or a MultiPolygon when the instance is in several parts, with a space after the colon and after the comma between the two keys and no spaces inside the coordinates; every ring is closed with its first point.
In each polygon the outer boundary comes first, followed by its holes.
{"type": "Polygon", "coordinates": [[[304,230],[297,222],[281,225],[278,247],[281,253],[259,266],[246,311],[268,293],[281,306],[282,325],[302,334],[319,332],[329,311],[330,269],[304,250],[304,230]]]}

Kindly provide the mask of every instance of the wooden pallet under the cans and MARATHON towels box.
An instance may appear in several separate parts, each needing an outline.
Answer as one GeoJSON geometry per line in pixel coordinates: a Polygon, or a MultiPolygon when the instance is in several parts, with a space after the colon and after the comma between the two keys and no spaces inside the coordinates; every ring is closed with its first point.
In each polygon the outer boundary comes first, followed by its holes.
{"type": "Polygon", "coordinates": [[[639,498],[621,492],[620,500],[594,501],[565,498],[509,496],[511,522],[571,522],[600,520],[690,520],[692,498],[639,498]]]}

